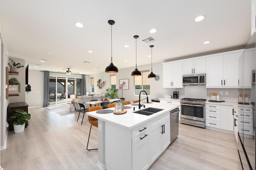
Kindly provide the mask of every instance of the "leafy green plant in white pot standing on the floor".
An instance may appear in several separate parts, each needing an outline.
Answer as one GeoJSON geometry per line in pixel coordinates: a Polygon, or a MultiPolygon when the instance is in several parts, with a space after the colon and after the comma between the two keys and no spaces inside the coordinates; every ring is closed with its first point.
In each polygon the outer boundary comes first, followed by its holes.
{"type": "Polygon", "coordinates": [[[24,131],[25,123],[31,119],[31,115],[23,109],[16,109],[15,111],[16,113],[10,116],[8,121],[13,121],[14,133],[20,133],[24,131]]]}

